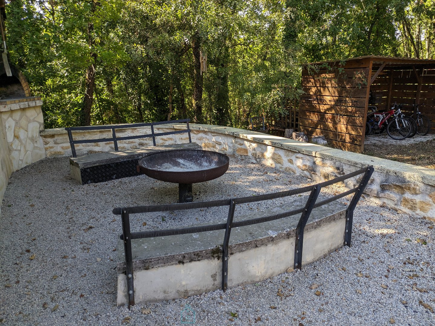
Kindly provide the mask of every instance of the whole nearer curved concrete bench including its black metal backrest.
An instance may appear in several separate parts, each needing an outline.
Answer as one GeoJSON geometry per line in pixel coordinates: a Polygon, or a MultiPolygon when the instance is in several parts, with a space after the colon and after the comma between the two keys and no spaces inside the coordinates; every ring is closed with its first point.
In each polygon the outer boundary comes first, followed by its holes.
{"type": "Polygon", "coordinates": [[[258,196],[115,208],[123,226],[117,248],[118,305],[181,298],[220,287],[225,291],[301,269],[350,246],[353,211],[372,173],[369,166],[313,186],[258,196]],[[322,187],[345,180],[356,186],[318,199],[322,187]],[[307,192],[309,196],[291,203],[234,216],[238,205],[307,192]],[[336,201],[352,193],[348,206],[336,201]],[[221,206],[228,206],[228,217],[214,224],[131,232],[130,214],[221,206]]]}

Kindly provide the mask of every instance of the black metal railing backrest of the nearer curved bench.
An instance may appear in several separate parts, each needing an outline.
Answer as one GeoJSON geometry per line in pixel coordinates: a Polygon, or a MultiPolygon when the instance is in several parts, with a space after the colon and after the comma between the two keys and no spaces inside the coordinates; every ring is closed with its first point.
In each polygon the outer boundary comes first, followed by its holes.
{"type": "Polygon", "coordinates": [[[134,305],[134,282],[133,282],[133,258],[131,251],[131,240],[133,239],[142,239],[142,238],[154,238],[157,236],[174,236],[180,234],[188,234],[188,233],[199,233],[199,232],[207,232],[207,231],[217,231],[217,230],[225,230],[224,241],[222,244],[222,289],[225,291],[228,287],[228,244],[230,241],[231,229],[235,227],[248,226],[257,223],[264,223],[273,220],[278,220],[284,217],[292,216],[295,214],[300,214],[298,225],[296,227],[296,238],[295,238],[295,246],[294,246],[294,269],[301,269],[302,266],[302,248],[304,242],[304,229],[307,224],[308,218],[311,214],[311,211],[319,206],[325,205],[327,203],[331,203],[335,200],[338,200],[344,196],[348,196],[351,193],[355,193],[351,202],[348,205],[346,210],[346,223],[345,223],[345,241],[344,244],[347,246],[351,245],[351,234],[352,234],[352,221],[353,221],[353,213],[355,210],[355,206],[358,203],[358,200],[361,197],[362,192],[367,186],[368,181],[370,180],[371,174],[373,173],[373,166],[368,166],[366,168],[357,170],[352,173],[348,173],[344,176],[340,176],[333,180],[325,181],[322,183],[315,184],[313,186],[305,186],[302,188],[294,189],[294,190],[286,190],[278,193],[270,193],[265,195],[258,196],[249,196],[249,197],[240,197],[240,198],[232,198],[227,200],[211,200],[206,202],[197,202],[197,203],[178,203],[178,204],[166,204],[166,205],[150,205],[150,206],[136,206],[136,207],[117,207],[114,208],[113,213],[116,215],[121,215],[122,219],[122,234],[120,235],[120,239],[124,241],[124,253],[125,253],[125,267],[127,274],[127,294],[128,294],[128,306],[134,305]],[[318,195],[322,187],[330,186],[334,183],[338,183],[347,179],[350,179],[354,176],[358,176],[363,174],[361,181],[358,186],[347,190],[338,195],[332,196],[325,200],[321,200],[316,203],[318,195]],[[236,205],[244,204],[244,203],[253,203],[261,200],[271,200],[276,198],[282,198],[291,195],[297,195],[301,193],[310,192],[308,196],[308,200],[305,203],[304,207],[297,208],[294,210],[290,210],[288,212],[279,213],[270,216],[263,216],[258,218],[253,218],[250,220],[242,220],[238,222],[233,222],[234,218],[234,210],[236,205]],[[173,211],[173,210],[191,210],[197,208],[208,208],[208,207],[218,207],[218,206],[229,206],[228,209],[228,218],[226,223],[218,223],[218,224],[210,224],[204,226],[192,226],[186,228],[179,229],[167,229],[167,230],[153,230],[153,231],[142,231],[142,232],[131,232],[130,229],[130,214],[136,213],[151,213],[151,212],[164,212],[164,211],[173,211]]]}

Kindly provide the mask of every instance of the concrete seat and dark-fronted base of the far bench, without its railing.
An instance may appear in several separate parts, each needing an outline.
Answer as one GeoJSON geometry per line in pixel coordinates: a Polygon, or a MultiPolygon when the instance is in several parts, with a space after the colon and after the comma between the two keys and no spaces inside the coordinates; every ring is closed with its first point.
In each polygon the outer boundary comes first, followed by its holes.
{"type": "Polygon", "coordinates": [[[196,143],[185,143],[71,157],[71,177],[81,184],[87,184],[138,176],[142,173],[136,170],[137,162],[147,153],[191,148],[201,146],[196,143]]]}

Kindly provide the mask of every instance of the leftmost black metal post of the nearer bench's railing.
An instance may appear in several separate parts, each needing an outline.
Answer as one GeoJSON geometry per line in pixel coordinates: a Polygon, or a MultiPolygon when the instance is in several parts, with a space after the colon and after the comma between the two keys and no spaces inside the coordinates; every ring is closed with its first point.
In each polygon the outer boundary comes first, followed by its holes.
{"type": "Polygon", "coordinates": [[[127,274],[128,309],[134,306],[133,257],[131,253],[130,216],[127,208],[121,210],[122,232],[124,235],[125,270],[127,274]]]}

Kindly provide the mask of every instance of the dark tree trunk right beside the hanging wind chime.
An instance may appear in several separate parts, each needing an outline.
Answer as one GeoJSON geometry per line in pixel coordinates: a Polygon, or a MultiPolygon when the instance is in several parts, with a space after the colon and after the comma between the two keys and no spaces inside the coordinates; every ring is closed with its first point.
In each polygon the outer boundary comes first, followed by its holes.
{"type": "Polygon", "coordinates": [[[200,58],[200,47],[201,43],[197,36],[192,40],[192,51],[194,60],[194,81],[193,81],[193,110],[194,110],[194,121],[196,123],[204,123],[204,118],[202,115],[202,86],[204,83],[203,76],[201,73],[201,58],[200,58]]]}

